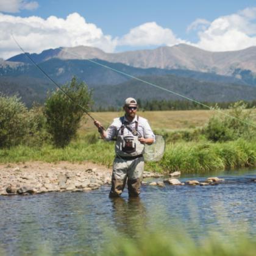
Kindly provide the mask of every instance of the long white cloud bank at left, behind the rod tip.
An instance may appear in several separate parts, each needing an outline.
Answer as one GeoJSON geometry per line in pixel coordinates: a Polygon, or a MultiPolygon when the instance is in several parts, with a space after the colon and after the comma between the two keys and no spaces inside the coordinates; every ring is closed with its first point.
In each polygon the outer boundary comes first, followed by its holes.
{"type": "Polygon", "coordinates": [[[116,46],[115,38],[104,35],[101,29],[87,23],[78,13],[72,13],[66,19],[49,16],[46,20],[37,16],[21,18],[0,13],[0,57],[4,59],[21,53],[11,33],[27,52],[78,45],[113,52],[116,46]]]}

